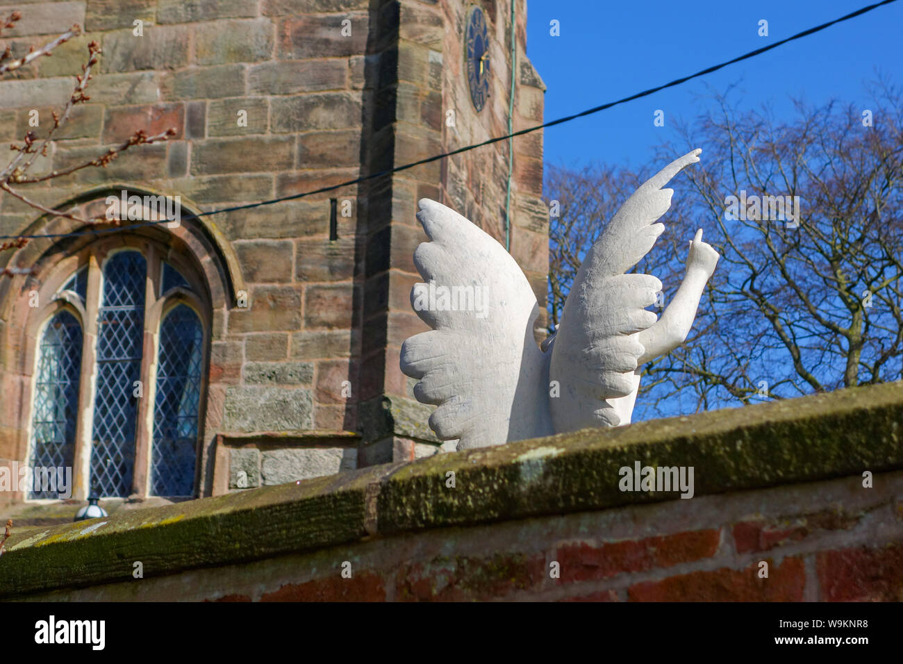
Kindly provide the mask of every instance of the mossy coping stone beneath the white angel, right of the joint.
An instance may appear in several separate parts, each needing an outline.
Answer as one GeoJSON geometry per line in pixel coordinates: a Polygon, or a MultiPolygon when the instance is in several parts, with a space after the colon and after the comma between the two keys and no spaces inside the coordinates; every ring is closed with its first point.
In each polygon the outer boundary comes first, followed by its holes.
{"type": "Polygon", "coordinates": [[[890,383],[694,416],[585,429],[406,465],[378,497],[379,532],[521,519],[679,492],[624,492],[619,469],[693,466],[694,494],[903,467],[903,385],[890,383]],[[454,489],[445,486],[455,473],[454,489]]]}

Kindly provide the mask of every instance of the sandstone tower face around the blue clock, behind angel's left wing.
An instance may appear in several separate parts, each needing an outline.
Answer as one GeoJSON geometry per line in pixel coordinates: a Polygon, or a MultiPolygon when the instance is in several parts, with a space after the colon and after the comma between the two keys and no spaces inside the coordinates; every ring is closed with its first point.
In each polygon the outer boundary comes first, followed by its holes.
{"type": "MultiPolygon", "coordinates": [[[[511,100],[510,6],[482,2],[489,23],[492,62],[489,100],[479,113],[470,101],[464,65],[464,42],[469,2],[403,0],[398,4],[397,83],[395,95],[393,164],[401,165],[431,154],[473,145],[507,134],[511,100]]],[[[395,11],[394,9],[392,11],[395,11]]],[[[545,86],[526,57],[525,0],[515,3],[514,129],[542,124],[545,86]]],[[[542,132],[514,140],[511,173],[510,251],[534,287],[540,315],[537,338],[545,338],[545,294],[548,274],[548,210],[542,195],[542,132]]],[[[420,281],[413,253],[425,235],[414,215],[416,203],[427,197],[449,205],[505,244],[505,201],[508,143],[499,142],[457,154],[441,162],[396,173],[392,181],[391,251],[374,279],[386,290],[387,302],[369,313],[365,286],[365,347],[362,385],[378,385],[364,395],[361,409],[371,443],[361,450],[363,463],[413,460],[433,454],[440,442],[425,426],[431,408],[416,403],[415,381],[398,368],[401,345],[407,337],[428,328],[411,311],[409,294],[420,281]],[[378,348],[368,343],[379,321],[378,348]],[[384,327],[385,326],[385,327],[384,327]],[[382,332],[383,328],[385,332],[382,332]],[[377,379],[369,379],[377,376],[377,379]]]]}

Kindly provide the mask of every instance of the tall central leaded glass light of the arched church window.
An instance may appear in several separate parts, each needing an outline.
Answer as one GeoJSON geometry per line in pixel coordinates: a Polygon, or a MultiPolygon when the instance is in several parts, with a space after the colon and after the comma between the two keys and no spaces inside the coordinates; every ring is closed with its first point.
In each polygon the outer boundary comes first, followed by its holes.
{"type": "Polygon", "coordinates": [[[119,252],[104,267],[90,480],[100,496],[132,492],[146,276],[147,261],[137,251],[119,252]]]}

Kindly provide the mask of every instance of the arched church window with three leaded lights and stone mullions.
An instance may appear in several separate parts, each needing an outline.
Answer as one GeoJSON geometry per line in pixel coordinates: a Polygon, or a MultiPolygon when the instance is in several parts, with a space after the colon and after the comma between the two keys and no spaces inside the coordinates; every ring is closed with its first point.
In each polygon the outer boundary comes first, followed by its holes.
{"type": "Polygon", "coordinates": [[[33,466],[71,467],[102,498],[196,495],[209,328],[199,275],[142,238],[82,250],[36,348],[33,466]]]}

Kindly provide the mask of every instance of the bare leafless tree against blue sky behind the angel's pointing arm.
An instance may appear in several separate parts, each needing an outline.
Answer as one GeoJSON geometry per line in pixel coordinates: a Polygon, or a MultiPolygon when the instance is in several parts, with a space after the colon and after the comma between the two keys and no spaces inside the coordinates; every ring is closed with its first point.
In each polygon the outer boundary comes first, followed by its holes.
{"type": "MultiPolygon", "coordinates": [[[[685,143],[663,146],[658,161],[695,146],[702,161],[675,182],[657,265],[638,269],[664,277],[665,297],[673,293],[684,236],[696,228],[721,262],[684,346],[644,369],[638,418],[900,378],[903,99],[887,84],[871,91],[873,108],[796,102],[790,122],[716,97],[712,112],[684,127],[685,143]]],[[[580,221],[598,235],[626,196],[611,186],[617,171],[582,176],[550,173],[547,195],[573,187],[617,195],[580,221]]],[[[553,235],[575,223],[558,222],[553,235]]],[[[563,245],[553,248],[557,283],[580,251],[563,245]]],[[[557,320],[551,307],[563,298],[549,303],[557,320]]]]}

